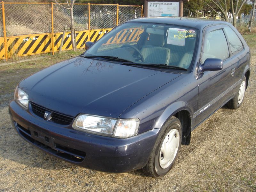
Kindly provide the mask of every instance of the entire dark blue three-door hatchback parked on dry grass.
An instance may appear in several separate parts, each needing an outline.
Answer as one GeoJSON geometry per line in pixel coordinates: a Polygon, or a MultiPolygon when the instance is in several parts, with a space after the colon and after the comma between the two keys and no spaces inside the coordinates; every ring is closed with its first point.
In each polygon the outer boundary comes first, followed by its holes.
{"type": "Polygon", "coordinates": [[[163,176],[193,129],[240,107],[250,76],[249,47],[222,21],[140,18],[85,46],[21,81],[9,113],[24,140],[103,172],[163,176]]]}

